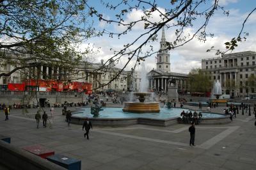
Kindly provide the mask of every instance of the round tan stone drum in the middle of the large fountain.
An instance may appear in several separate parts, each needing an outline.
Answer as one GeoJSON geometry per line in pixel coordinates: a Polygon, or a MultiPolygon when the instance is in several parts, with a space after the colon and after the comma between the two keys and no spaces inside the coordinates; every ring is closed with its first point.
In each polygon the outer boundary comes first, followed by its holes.
{"type": "Polygon", "coordinates": [[[125,102],[124,112],[160,112],[158,102],[125,102]]]}

